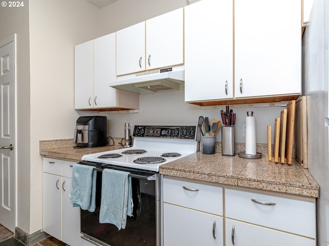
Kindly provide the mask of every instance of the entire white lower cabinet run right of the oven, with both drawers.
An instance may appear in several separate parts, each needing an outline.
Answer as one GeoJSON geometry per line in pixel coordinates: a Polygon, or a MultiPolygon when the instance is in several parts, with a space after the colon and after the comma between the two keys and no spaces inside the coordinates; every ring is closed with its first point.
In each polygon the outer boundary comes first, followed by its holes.
{"type": "Polygon", "coordinates": [[[162,183],[165,246],[316,245],[315,198],[167,176],[162,183]]]}

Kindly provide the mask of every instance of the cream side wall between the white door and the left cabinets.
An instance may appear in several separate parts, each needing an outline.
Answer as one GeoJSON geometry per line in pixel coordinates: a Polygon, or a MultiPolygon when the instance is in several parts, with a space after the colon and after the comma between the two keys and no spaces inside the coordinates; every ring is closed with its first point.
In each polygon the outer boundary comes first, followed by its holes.
{"type": "Polygon", "coordinates": [[[71,138],[74,46],[99,36],[99,9],[81,0],[30,0],[31,183],[30,228],[42,229],[42,157],[39,141],[71,138]]]}

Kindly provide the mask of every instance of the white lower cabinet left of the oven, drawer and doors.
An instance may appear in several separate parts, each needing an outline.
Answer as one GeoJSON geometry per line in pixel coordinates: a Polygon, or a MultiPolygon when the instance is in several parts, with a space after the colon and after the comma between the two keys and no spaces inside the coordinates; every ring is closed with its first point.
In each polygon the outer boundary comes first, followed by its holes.
{"type": "Polygon", "coordinates": [[[80,209],[69,202],[75,162],[44,158],[43,163],[43,230],[71,246],[82,245],[80,209]]]}

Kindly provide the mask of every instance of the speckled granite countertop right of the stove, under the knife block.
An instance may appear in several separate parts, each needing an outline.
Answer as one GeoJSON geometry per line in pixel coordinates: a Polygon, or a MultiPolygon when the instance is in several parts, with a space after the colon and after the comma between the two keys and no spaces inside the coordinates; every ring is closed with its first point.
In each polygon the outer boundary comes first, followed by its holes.
{"type": "Polygon", "coordinates": [[[319,197],[319,186],[307,169],[293,165],[196,152],[160,166],[160,174],[224,185],[319,197]]]}

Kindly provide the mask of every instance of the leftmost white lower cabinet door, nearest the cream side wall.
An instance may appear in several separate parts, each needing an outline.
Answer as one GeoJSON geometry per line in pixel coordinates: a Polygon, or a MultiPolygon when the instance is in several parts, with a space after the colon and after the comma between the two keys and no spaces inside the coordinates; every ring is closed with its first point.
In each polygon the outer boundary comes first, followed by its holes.
{"type": "Polygon", "coordinates": [[[62,177],[43,173],[43,230],[62,240],[62,177]]]}

